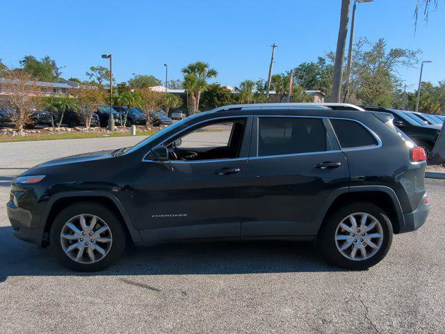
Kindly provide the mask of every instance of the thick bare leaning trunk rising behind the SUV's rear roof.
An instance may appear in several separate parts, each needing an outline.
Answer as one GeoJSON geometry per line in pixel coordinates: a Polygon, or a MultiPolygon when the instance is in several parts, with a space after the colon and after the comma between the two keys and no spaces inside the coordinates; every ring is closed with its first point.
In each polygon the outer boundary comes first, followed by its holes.
{"type": "Polygon", "coordinates": [[[346,35],[348,35],[350,0],[341,1],[341,17],[337,51],[335,53],[334,81],[332,82],[332,102],[340,102],[341,82],[343,81],[343,63],[345,59],[346,35]]]}

